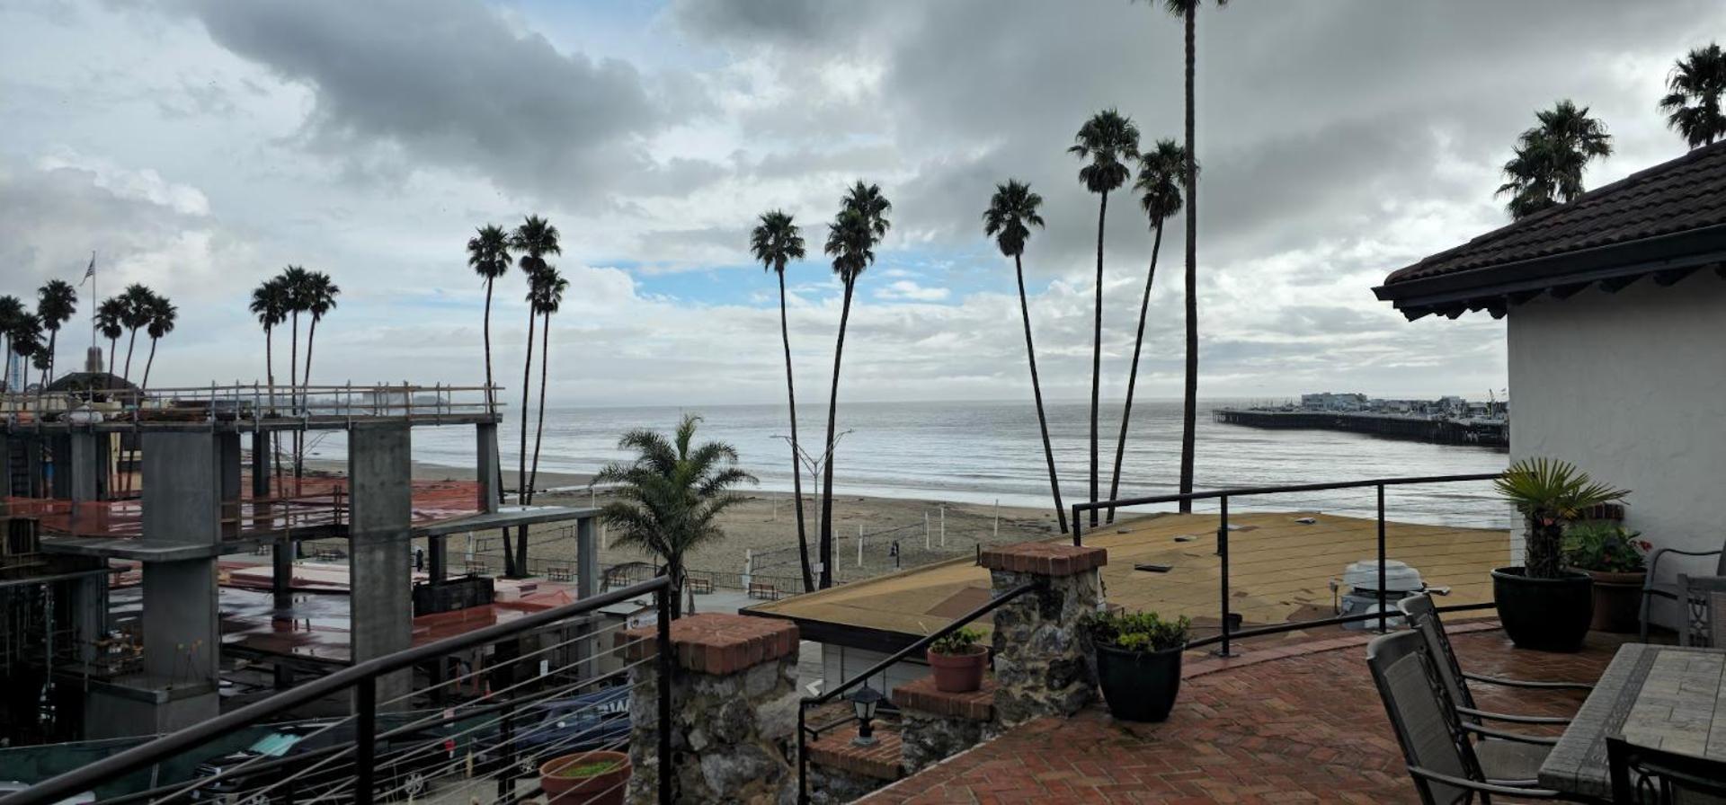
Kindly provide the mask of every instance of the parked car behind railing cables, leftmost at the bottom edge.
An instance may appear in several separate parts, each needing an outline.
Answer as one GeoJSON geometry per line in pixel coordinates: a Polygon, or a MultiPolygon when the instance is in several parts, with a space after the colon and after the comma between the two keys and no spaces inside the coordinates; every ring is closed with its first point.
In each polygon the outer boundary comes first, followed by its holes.
{"type": "MultiPolygon", "coordinates": [[[[428,727],[380,736],[376,741],[373,796],[407,800],[423,796],[433,777],[456,771],[454,741],[447,729],[428,727]]],[[[354,724],[293,724],[280,727],[240,752],[212,757],[198,764],[195,779],[217,777],[224,769],[255,762],[226,777],[200,783],[190,791],[197,802],[224,805],[287,803],[319,796],[324,802],[349,802],[354,779],[354,724]],[[326,729],[328,727],[328,729],[326,729]],[[342,757],[347,752],[347,757],[342,757]],[[304,764],[271,760],[306,757],[304,764]],[[324,765],[318,762],[335,757],[324,765]],[[292,779],[290,779],[292,777],[292,779]]]]}

